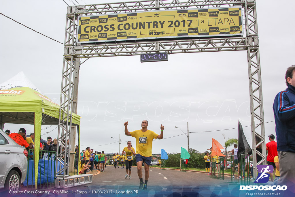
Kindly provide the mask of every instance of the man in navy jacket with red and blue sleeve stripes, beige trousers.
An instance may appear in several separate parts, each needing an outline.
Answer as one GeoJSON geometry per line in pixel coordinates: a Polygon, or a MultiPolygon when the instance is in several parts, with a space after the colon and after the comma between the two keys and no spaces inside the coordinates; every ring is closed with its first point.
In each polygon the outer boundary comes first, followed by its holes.
{"type": "Polygon", "coordinates": [[[278,159],[280,164],[279,184],[294,191],[295,183],[295,65],[286,71],[288,88],[276,95],[273,113],[276,122],[278,159]]]}

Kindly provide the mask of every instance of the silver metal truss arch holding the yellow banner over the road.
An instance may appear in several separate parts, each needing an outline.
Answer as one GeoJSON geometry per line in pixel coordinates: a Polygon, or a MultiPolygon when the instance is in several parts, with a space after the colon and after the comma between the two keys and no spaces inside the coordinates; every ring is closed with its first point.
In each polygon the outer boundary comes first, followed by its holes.
{"type": "MultiPolygon", "coordinates": [[[[71,146],[74,147],[75,135],[72,129],[72,113],[76,113],[77,110],[78,76],[81,58],[85,58],[86,61],[92,57],[135,56],[141,53],[151,52],[167,52],[168,54],[173,54],[247,51],[253,167],[255,170],[257,169],[256,154],[259,154],[263,158],[261,161],[257,161],[257,163],[266,164],[261,67],[255,2],[256,0],[145,0],[69,6],[66,14],[58,145],[62,144],[63,140],[67,141],[67,139],[70,139],[71,146]],[[245,28],[246,33],[243,37],[209,37],[186,40],[167,39],[165,41],[140,40],[134,42],[94,44],[79,44],[76,40],[78,16],[171,9],[208,9],[233,6],[242,6],[244,10],[243,28],[245,28]],[[259,144],[255,144],[255,137],[261,139],[259,144]],[[262,154],[255,151],[255,147],[260,144],[262,145],[262,154]]],[[[65,146],[65,151],[58,154],[58,161],[65,165],[63,169],[56,171],[56,187],[65,187],[66,185],[65,179],[69,177],[68,172],[71,170],[71,162],[68,158],[70,153],[70,148],[65,146]],[[63,172],[63,174],[61,172],[63,172]]]]}

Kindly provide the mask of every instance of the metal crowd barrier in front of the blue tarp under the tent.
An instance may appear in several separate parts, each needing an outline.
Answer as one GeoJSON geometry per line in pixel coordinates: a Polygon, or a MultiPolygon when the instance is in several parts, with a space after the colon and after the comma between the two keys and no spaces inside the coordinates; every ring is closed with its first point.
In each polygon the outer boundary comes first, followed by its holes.
{"type": "MultiPolygon", "coordinates": [[[[34,150],[30,149],[27,165],[27,178],[25,184],[27,189],[35,189],[35,155],[34,150]],[[30,185],[30,187],[29,187],[30,185]]],[[[55,151],[40,151],[39,153],[39,169],[38,169],[38,189],[53,188],[55,181],[55,151]]]]}

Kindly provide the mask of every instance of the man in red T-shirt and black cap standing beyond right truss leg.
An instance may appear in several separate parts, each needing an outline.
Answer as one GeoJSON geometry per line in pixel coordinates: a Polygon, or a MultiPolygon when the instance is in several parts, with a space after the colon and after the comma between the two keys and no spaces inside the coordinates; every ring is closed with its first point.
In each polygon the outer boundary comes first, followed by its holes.
{"type": "MultiPolygon", "coordinates": [[[[273,166],[273,171],[276,174],[276,165],[275,165],[275,161],[274,158],[276,156],[278,156],[278,150],[277,150],[277,145],[276,142],[274,141],[275,136],[273,134],[269,135],[269,141],[266,144],[266,150],[268,151],[267,153],[267,159],[266,159],[266,164],[267,165],[272,165],[273,166]]],[[[269,173],[271,176],[271,181],[273,181],[273,173],[269,173]]]]}

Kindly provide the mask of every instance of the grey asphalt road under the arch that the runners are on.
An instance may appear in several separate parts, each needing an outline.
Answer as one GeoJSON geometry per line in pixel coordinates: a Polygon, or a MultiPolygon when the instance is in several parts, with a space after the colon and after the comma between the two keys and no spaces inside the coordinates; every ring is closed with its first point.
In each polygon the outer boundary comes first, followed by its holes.
{"type": "MultiPolygon", "coordinates": [[[[201,172],[181,172],[178,170],[162,170],[158,168],[150,168],[150,177],[148,181],[148,191],[142,191],[138,189],[139,178],[137,175],[137,168],[132,167],[132,173],[130,180],[125,179],[126,169],[121,167],[115,169],[112,166],[108,166],[104,172],[100,172],[93,176],[93,183],[89,185],[83,185],[75,187],[75,190],[87,191],[89,194],[93,192],[121,192],[121,191],[137,191],[137,195],[141,193],[147,194],[159,194],[169,195],[173,193],[179,193],[181,196],[184,193],[193,192],[198,193],[203,191],[209,195],[212,193],[219,194],[220,192],[228,192],[228,187],[231,185],[230,177],[224,176],[224,180],[218,180],[212,178],[205,173],[201,172]],[[145,193],[144,193],[145,192],[145,193]],[[184,193],[183,193],[184,192],[184,193]]],[[[144,177],[144,169],[142,168],[144,177]]],[[[104,196],[104,195],[102,195],[104,196]]],[[[135,195],[136,196],[136,195],[135,195]]]]}

